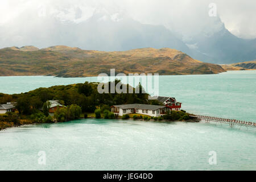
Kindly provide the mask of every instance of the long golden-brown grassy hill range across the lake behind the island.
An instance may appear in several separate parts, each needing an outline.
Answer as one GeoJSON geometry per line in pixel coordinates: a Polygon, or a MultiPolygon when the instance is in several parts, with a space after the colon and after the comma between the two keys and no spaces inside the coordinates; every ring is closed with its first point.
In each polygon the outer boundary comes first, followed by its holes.
{"type": "Polygon", "coordinates": [[[225,72],[220,65],[203,63],[170,48],[118,52],[86,51],[67,46],[0,49],[0,76],[86,77],[109,74],[110,68],[115,68],[116,73],[126,74],[189,75],[225,72]]]}

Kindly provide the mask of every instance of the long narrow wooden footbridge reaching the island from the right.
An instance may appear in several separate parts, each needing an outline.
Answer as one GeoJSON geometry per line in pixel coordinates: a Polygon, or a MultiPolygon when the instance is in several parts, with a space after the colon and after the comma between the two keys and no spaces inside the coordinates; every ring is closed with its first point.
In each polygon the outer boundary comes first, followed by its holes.
{"type": "Polygon", "coordinates": [[[229,123],[230,127],[234,127],[235,125],[256,127],[256,123],[254,122],[240,121],[237,119],[217,118],[217,117],[211,117],[207,115],[190,115],[190,117],[204,119],[204,121],[207,123],[209,123],[210,121],[229,123]]]}

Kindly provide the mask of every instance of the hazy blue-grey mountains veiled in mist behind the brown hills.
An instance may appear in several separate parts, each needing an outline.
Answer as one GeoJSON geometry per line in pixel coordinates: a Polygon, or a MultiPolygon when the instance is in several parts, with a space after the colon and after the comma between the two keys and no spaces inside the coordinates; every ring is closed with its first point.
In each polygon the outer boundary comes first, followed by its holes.
{"type": "MultiPolygon", "coordinates": [[[[65,13],[65,11],[63,11],[65,13]]],[[[143,24],[122,13],[97,9],[87,19],[61,19],[53,14],[38,16],[33,10],[0,25],[0,47],[65,45],[98,51],[126,51],[136,48],[173,48],[194,59],[218,64],[256,59],[256,39],[242,39],[231,34],[220,18],[212,27],[189,35],[162,25],[143,24]],[[24,23],[26,22],[26,23],[24,23]]]]}

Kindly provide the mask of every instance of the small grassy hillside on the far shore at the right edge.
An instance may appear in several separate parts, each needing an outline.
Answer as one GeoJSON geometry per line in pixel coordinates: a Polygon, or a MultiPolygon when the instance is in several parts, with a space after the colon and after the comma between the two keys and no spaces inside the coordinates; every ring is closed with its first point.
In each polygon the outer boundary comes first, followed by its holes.
{"type": "Polygon", "coordinates": [[[222,68],[226,69],[227,71],[232,71],[232,70],[256,70],[256,60],[245,61],[245,62],[234,63],[234,64],[223,64],[221,66],[222,66],[222,68]]]}

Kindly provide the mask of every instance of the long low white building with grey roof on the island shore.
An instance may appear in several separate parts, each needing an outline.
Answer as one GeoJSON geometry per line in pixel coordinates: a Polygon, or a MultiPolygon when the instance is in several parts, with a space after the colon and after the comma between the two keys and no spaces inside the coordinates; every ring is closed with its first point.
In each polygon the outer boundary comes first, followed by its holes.
{"type": "Polygon", "coordinates": [[[170,110],[166,106],[146,105],[146,104],[125,104],[125,105],[113,105],[111,111],[117,115],[125,114],[144,114],[151,117],[159,117],[166,114],[167,110],[170,110]]]}

